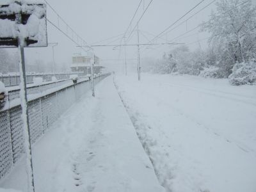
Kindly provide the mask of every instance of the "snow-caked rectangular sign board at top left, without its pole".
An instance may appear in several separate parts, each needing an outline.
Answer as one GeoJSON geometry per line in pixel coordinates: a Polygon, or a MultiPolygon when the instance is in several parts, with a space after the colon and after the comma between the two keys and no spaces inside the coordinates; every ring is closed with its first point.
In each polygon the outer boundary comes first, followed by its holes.
{"type": "Polygon", "coordinates": [[[3,0],[0,2],[0,48],[47,46],[46,4],[42,1],[3,0]]]}

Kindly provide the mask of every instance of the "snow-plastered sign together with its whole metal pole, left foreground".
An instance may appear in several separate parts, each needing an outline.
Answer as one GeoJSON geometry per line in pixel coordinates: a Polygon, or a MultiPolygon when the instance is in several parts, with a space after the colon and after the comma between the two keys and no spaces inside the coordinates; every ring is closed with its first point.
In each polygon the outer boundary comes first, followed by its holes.
{"type": "Polygon", "coordinates": [[[29,129],[24,47],[47,46],[46,5],[43,1],[39,1],[36,0],[38,4],[26,3],[26,0],[15,1],[14,3],[10,1],[9,4],[0,3],[0,48],[18,47],[19,49],[22,136],[24,137],[26,153],[28,192],[35,192],[35,183],[29,129]]]}

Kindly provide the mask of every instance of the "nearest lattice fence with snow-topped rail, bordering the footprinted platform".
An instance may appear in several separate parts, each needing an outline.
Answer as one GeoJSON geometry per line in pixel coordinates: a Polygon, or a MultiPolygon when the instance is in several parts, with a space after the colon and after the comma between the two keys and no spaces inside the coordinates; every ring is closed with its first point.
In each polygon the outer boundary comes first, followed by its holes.
{"type": "MultiPolygon", "coordinates": [[[[110,74],[100,74],[95,76],[95,83],[98,83],[110,74]]],[[[56,84],[55,84],[56,85],[56,84]]],[[[35,94],[28,95],[29,127],[31,132],[31,143],[35,143],[45,131],[51,126],[61,114],[76,102],[81,96],[91,90],[91,82],[88,78],[79,78],[77,83],[73,81],[52,86],[33,86],[35,94]],[[37,92],[39,90],[39,92],[37,92]],[[31,97],[33,95],[33,97],[31,97]]],[[[15,90],[17,91],[17,90],[15,90]]],[[[19,92],[19,90],[18,90],[19,92]]],[[[15,93],[16,94],[16,93],[15,93]]],[[[0,180],[12,170],[13,166],[24,154],[22,137],[22,111],[17,99],[11,96],[12,100],[7,103],[7,107],[0,111],[0,180]]]]}

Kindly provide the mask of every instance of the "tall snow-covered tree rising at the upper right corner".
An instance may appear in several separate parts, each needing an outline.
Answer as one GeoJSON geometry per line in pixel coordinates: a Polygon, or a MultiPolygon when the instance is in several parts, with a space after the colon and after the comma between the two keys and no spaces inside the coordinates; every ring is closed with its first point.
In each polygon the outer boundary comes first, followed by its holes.
{"type": "Polygon", "coordinates": [[[256,7],[248,0],[221,0],[216,5],[216,13],[202,29],[211,33],[209,44],[223,76],[228,77],[235,63],[255,58],[256,7]]]}

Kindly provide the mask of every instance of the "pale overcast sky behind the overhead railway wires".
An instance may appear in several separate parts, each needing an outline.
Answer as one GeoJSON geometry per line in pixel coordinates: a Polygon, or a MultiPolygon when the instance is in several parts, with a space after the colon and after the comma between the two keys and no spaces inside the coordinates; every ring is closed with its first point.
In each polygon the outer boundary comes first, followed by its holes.
{"type": "MultiPolygon", "coordinates": [[[[143,31],[143,35],[140,35],[140,42],[147,43],[147,39],[152,39],[154,36],[150,36],[147,33],[153,35],[159,34],[166,27],[170,26],[175,20],[179,19],[184,13],[190,10],[193,6],[199,3],[201,0],[153,0],[150,4],[147,12],[140,21],[140,30],[143,31]]],[[[197,12],[205,5],[211,3],[212,0],[205,0],[204,3],[200,4],[193,12],[197,12]]],[[[88,42],[92,44],[93,42],[99,42],[111,36],[116,36],[125,32],[125,29],[129,25],[132,16],[140,3],[140,0],[48,0],[53,8],[63,17],[65,21],[88,42]]],[[[141,4],[141,8],[134,19],[132,28],[136,21],[140,18],[143,10],[147,7],[150,0],[145,0],[141,4]]],[[[186,24],[182,24],[179,28],[173,30],[168,35],[164,36],[165,39],[172,39],[185,33],[186,30],[195,28],[203,20],[207,20],[207,15],[214,10],[214,4],[211,4],[208,8],[205,8],[202,12],[198,13],[195,17],[188,20],[187,28],[186,24]]],[[[189,15],[185,18],[188,18],[189,15]]],[[[56,15],[47,8],[47,17],[57,24],[58,20],[56,15]]],[[[183,20],[181,20],[183,21],[183,20]]],[[[61,23],[60,23],[61,24],[61,23]]],[[[64,25],[61,25],[61,29],[66,30],[64,25]]],[[[195,34],[197,31],[193,31],[188,35],[192,35],[189,38],[182,38],[176,40],[176,42],[189,43],[195,42],[198,39],[205,38],[205,34],[195,34]]],[[[129,33],[127,33],[129,34],[129,33]]],[[[188,36],[185,35],[185,36],[188,36]]],[[[70,63],[71,57],[74,52],[82,52],[81,49],[77,48],[76,45],[63,36],[60,31],[53,28],[51,24],[48,24],[48,39],[49,42],[58,42],[59,45],[55,48],[56,50],[56,62],[70,63]]],[[[114,39],[115,40],[115,39],[114,39]]],[[[129,43],[135,43],[137,41],[136,33],[129,43]]],[[[164,42],[164,40],[161,40],[164,42]]],[[[109,41],[108,41],[109,42],[109,41]]],[[[106,44],[108,42],[101,42],[99,44],[106,44]]],[[[111,40],[110,40],[111,42],[111,40]]],[[[118,44],[119,40],[113,42],[112,44],[118,44]]],[[[200,42],[200,45],[204,47],[205,42],[200,42]]],[[[196,49],[199,44],[191,44],[191,49],[196,49]]],[[[157,46],[150,47],[156,48],[157,46]]],[[[95,54],[99,56],[103,61],[118,58],[118,50],[113,51],[113,47],[100,47],[95,48],[95,54]]],[[[141,57],[154,56],[160,57],[163,55],[164,51],[172,49],[170,45],[164,45],[161,49],[147,49],[141,52],[141,57]]],[[[36,48],[27,49],[26,57],[29,61],[35,59],[42,59],[45,61],[51,61],[51,47],[46,48],[36,48]]],[[[127,58],[136,58],[137,48],[127,47],[127,58]]],[[[124,58],[124,51],[121,54],[121,59],[124,58]]],[[[108,61],[112,62],[113,61],[108,61]]]]}

